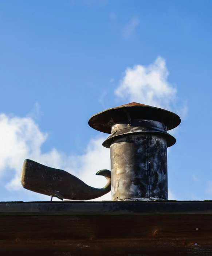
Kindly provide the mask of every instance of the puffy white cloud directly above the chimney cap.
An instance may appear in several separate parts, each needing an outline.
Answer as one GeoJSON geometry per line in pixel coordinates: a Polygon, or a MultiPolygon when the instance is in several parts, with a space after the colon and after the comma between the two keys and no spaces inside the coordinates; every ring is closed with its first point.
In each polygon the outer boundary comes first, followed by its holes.
{"type": "Polygon", "coordinates": [[[165,59],[160,56],[149,66],[127,67],[115,95],[129,102],[139,102],[177,112],[182,118],[187,105],[179,101],[177,88],[168,82],[165,59]]]}

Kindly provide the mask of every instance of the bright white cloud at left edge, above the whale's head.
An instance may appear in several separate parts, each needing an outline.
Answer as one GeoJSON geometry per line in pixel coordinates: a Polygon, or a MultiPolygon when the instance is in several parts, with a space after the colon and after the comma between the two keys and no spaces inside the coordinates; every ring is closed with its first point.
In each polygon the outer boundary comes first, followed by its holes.
{"type": "Polygon", "coordinates": [[[39,155],[47,134],[40,132],[30,117],[0,115],[0,174],[6,168],[17,170],[25,155],[39,155]]]}

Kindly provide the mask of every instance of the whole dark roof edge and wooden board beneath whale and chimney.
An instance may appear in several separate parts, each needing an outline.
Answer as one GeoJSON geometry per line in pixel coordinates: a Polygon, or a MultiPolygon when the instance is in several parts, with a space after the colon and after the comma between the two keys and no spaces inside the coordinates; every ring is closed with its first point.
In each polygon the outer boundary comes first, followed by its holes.
{"type": "Polygon", "coordinates": [[[212,201],[0,202],[0,255],[212,255],[212,201]]]}

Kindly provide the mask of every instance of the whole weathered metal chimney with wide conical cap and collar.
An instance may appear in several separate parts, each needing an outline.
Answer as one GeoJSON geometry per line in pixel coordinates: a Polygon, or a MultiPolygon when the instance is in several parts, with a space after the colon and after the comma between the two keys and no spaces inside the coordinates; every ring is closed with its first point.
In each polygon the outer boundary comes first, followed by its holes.
{"type": "Polygon", "coordinates": [[[103,146],[111,152],[111,200],[168,199],[167,133],[180,124],[168,110],[132,102],[92,116],[90,127],[111,135],[103,146]]]}

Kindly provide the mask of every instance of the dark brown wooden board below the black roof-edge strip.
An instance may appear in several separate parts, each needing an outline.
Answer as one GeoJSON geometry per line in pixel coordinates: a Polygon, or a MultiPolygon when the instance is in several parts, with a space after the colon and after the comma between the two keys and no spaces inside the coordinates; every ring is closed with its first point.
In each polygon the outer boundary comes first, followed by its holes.
{"type": "Polygon", "coordinates": [[[212,255],[212,214],[0,216],[0,253],[212,255]]]}

